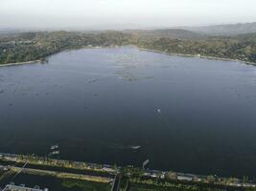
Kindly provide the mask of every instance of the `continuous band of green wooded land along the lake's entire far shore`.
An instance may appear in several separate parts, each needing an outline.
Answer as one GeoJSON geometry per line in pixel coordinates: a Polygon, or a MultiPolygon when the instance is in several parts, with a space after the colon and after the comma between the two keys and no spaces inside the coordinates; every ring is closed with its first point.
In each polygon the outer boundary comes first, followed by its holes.
{"type": "Polygon", "coordinates": [[[0,35],[0,64],[38,60],[67,49],[122,45],[256,63],[256,33],[215,37],[172,32],[24,32],[0,35]]]}

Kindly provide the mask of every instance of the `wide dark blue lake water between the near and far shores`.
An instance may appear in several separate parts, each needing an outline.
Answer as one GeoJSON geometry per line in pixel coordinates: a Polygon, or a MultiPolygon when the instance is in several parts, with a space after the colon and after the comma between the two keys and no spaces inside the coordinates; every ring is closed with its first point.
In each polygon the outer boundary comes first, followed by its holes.
{"type": "Polygon", "coordinates": [[[256,67],[136,48],[0,67],[0,152],[256,177],[256,67]]]}

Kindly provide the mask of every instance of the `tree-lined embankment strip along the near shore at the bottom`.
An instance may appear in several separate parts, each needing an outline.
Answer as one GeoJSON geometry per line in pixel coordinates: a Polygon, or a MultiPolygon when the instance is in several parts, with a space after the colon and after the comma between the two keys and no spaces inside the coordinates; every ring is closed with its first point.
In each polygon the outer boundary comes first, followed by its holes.
{"type": "MultiPolygon", "coordinates": [[[[159,171],[159,170],[144,170],[136,167],[115,167],[105,164],[95,164],[95,163],[85,163],[79,161],[69,161],[69,160],[61,160],[61,159],[46,159],[35,156],[22,156],[22,155],[13,155],[13,154],[1,154],[0,153],[0,167],[1,167],[1,159],[2,165],[7,166],[11,171],[15,173],[27,173],[32,175],[41,175],[41,176],[54,176],[59,179],[77,179],[77,180],[89,180],[89,181],[97,181],[97,182],[112,182],[113,178],[105,177],[105,174],[97,174],[97,176],[92,175],[87,171],[86,174],[81,173],[79,171],[70,172],[67,169],[90,169],[91,172],[102,171],[105,173],[110,173],[111,175],[122,174],[122,177],[127,177],[129,182],[133,182],[135,184],[155,184],[157,186],[169,185],[173,187],[179,184],[183,184],[185,186],[195,184],[201,185],[204,187],[207,186],[221,186],[226,187],[230,186],[232,188],[243,187],[243,188],[252,188],[256,189],[256,184],[252,180],[239,180],[236,178],[223,178],[218,177],[217,175],[196,175],[196,174],[185,174],[178,173],[174,171],[159,171]],[[12,163],[6,163],[8,161],[12,161],[12,163]],[[37,164],[31,165],[30,164],[37,164]],[[61,167],[60,170],[53,170],[50,167],[61,167]],[[157,182],[162,182],[159,184],[157,182]],[[175,183],[175,184],[174,184],[175,183]]],[[[0,168],[1,169],[1,168],[0,168]]],[[[169,187],[168,186],[168,187],[169,187]]]]}

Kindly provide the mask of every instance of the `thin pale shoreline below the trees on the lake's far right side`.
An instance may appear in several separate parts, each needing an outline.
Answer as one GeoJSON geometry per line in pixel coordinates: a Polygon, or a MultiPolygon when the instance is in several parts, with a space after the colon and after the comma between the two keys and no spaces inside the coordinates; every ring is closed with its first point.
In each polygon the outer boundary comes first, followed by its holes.
{"type": "Polygon", "coordinates": [[[215,57],[215,56],[207,56],[207,55],[198,55],[198,54],[185,54],[185,53],[167,53],[164,51],[158,51],[158,50],[153,50],[153,49],[146,49],[146,48],[140,48],[137,47],[140,51],[149,51],[153,53],[165,53],[168,55],[176,55],[176,56],[184,56],[184,57],[198,57],[202,59],[209,59],[209,60],[222,60],[222,61],[234,61],[234,62],[241,62],[246,65],[251,65],[251,66],[256,66],[256,62],[248,62],[240,59],[232,59],[232,58],[224,58],[224,57],[215,57]]]}

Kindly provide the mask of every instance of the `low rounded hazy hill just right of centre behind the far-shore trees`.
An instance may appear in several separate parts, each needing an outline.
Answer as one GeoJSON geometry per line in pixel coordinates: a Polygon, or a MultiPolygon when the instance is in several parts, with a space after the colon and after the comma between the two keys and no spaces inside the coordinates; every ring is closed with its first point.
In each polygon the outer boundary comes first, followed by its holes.
{"type": "Polygon", "coordinates": [[[127,30],[124,32],[137,35],[140,38],[153,39],[159,37],[171,38],[171,39],[198,39],[203,37],[203,34],[198,32],[190,32],[182,29],[163,29],[163,30],[127,30]]]}

